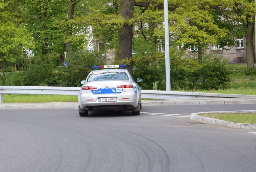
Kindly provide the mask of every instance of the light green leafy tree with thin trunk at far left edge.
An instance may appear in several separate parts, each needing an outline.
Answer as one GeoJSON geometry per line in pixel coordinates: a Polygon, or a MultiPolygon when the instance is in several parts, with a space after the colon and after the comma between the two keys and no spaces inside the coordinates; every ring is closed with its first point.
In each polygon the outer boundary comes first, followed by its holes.
{"type": "Polygon", "coordinates": [[[23,49],[32,47],[31,37],[23,21],[23,1],[2,1],[0,5],[0,68],[5,85],[5,63],[14,62],[23,49]]]}

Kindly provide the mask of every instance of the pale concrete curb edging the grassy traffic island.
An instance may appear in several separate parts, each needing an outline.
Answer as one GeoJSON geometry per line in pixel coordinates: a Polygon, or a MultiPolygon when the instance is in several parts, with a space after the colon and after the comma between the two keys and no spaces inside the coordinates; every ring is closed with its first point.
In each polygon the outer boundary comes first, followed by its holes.
{"type": "Polygon", "coordinates": [[[206,124],[220,125],[229,128],[240,128],[240,129],[256,129],[256,124],[245,124],[245,123],[235,123],[229,121],[223,121],[219,119],[209,118],[200,116],[202,113],[255,113],[256,110],[239,110],[239,111],[217,111],[217,112],[200,112],[190,114],[190,118],[193,121],[202,122],[206,124]]]}

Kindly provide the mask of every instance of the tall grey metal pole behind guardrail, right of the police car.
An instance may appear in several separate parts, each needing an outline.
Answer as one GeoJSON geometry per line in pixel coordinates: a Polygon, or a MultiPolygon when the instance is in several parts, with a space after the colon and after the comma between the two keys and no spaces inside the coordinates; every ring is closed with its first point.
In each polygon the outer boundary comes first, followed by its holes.
{"type": "Polygon", "coordinates": [[[169,55],[168,0],[164,0],[164,37],[165,37],[165,78],[166,78],[166,91],[171,91],[170,55],[169,55]]]}

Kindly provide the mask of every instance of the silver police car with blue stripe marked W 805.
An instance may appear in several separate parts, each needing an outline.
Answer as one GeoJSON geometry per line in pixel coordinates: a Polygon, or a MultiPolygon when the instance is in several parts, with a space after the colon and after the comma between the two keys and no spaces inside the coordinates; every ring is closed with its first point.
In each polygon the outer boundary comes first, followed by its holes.
{"type": "Polygon", "coordinates": [[[131,110],[139,115],[141,93],[126,65],[93,66],[86,80],[81,81],[78,95],[80,116],[88,116],[88,111],[97,110],[131,110]]]}

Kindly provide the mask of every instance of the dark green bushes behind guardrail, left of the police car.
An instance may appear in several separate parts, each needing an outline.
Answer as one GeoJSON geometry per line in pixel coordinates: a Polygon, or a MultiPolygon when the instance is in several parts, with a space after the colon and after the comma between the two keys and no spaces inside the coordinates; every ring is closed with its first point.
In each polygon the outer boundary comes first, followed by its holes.
{"type": "Polygon", "coordinates": [[[97,60],[96,54],[81,52],[68,60],[68,67],[58,66],[58,56],[48,56],[47,60],[34,58],[29,69],[17,75],[17,82],[9,82],[10,85],[25,86],[68,86],[79,87],[92,70],[93,65],[103,65],[103,59],[97,60]]]}

